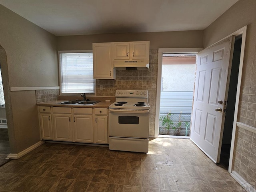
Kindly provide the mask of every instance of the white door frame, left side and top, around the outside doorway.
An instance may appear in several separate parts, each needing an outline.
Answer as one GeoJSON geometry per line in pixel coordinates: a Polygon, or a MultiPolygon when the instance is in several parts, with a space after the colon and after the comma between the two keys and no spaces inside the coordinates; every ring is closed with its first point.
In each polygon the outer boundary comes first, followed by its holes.
{"type": "Polygon", "coordinates": [[[160,113],[160,96],[161,96],[161,78],[162,78],[162,56],[163,53],[194,53],[202,51],[203,48],[159,48],[158,49],[158,72],[157,72],[157,89],[156,89],[156,116],[155,116],[155,134],[154,137],[157,138],[159,134],[159,113],[160,113]]]}

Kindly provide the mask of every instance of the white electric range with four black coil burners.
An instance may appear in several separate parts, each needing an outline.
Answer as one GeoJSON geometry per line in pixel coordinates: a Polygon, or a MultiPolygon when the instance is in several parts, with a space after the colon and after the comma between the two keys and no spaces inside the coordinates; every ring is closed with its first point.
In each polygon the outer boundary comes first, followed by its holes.
{"type": "Polygon", "coordinates": [[[148,90],[116,90],[109,106],[109,148],[148,152],[148,90]]]}

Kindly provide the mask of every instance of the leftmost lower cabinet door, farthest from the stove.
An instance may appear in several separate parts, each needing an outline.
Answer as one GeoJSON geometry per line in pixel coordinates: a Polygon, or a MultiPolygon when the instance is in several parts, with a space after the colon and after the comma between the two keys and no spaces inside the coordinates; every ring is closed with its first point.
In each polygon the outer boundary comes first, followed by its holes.
{"type": "Polygon", "coordinates": [[[43,139],[53,139],[52,136],[52,120],[51,120],[51,114],[40,113],[40,124],[41,124],[41,133],[43,139]]]}

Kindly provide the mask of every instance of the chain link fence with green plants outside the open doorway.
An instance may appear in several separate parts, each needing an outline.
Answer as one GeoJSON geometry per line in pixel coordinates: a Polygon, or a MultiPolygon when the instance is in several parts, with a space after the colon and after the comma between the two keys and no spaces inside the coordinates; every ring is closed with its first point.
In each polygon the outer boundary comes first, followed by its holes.
{"type": "Polygon", "coordinates": [[[191,114],[187,113],[160,113],[159,134],[190,136],[191,114]],[[187,130],[186,130],[187,127],[187,130]]]}

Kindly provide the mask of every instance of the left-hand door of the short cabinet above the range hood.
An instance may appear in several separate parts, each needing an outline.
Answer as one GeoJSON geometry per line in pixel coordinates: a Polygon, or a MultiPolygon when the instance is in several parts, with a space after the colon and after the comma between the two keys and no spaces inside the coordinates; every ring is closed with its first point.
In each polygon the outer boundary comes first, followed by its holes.
{"type": "Polygon", "coordinates": [[[130,59],[130,43],[114,43],[114,60],[129,60],[130,59]]]}

